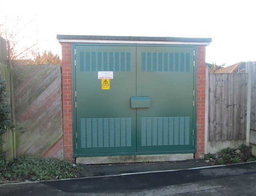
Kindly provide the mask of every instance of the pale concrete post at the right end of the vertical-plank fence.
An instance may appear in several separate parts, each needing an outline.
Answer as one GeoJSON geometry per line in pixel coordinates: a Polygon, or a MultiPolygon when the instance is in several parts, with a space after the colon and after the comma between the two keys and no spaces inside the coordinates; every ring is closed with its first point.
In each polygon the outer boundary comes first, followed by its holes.
{"type": "Polygon", "coordinates": [[[246,117],[246,146],[250,145],[250,117],[251,117],[251,88],[252,88],[252,70],[251,61],[246,62],[247,81],[247,117],[246,117]]]}

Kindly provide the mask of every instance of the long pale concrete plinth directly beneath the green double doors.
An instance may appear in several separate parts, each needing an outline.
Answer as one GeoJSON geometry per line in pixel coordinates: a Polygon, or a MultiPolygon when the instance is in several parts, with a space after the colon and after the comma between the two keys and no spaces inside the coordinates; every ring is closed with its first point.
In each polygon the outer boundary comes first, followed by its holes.
{"type": "Polygon", "coordinates": [[[125,163],[125,162],[158,162],[158,161],[178,161],[194,158],[194,154],[153,154],[153,155],[129,155],[129,156],[94,156],[77,157],[76,163],[82,164],[105,164],[105,163],[125,163]]]}

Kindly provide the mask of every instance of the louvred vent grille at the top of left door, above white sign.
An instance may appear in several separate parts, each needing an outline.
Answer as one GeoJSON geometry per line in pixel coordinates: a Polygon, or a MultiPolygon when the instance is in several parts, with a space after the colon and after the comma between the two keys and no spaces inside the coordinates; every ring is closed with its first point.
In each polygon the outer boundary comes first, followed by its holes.
{"type": "Polygon", "coordinates": [[[131,71],[131,53],[80,52],[79,71],[131,71]]]}

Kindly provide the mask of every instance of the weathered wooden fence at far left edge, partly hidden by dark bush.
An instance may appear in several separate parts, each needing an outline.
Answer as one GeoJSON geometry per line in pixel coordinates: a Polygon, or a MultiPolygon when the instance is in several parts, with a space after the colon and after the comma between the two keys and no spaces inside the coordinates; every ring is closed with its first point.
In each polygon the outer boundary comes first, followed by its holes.
{"type": "MultiPolygon", "coordinates": [[[[13,96],[13,80],[12,80],[12,66],[10,61],[10,42],[0,37],[0,77],[6,80],[6,91],[9,95],[8,102],[12,107],[12,120],[14,119],[14,96],[13,96]]],[[[2,149],[7,152],[8,160],[15,158],[15,132],[7,130],[2,135],[5,143],[2,149]]]]}

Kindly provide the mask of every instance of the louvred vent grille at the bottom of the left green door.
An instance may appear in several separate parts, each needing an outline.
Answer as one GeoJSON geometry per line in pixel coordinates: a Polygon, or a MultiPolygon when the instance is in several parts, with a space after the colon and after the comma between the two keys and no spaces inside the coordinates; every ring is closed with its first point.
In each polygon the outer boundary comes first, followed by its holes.
{"type": "Polygon", "coordinates": [[[81,147],[130,147],[131,118],[80,119],[81,147]]]}

